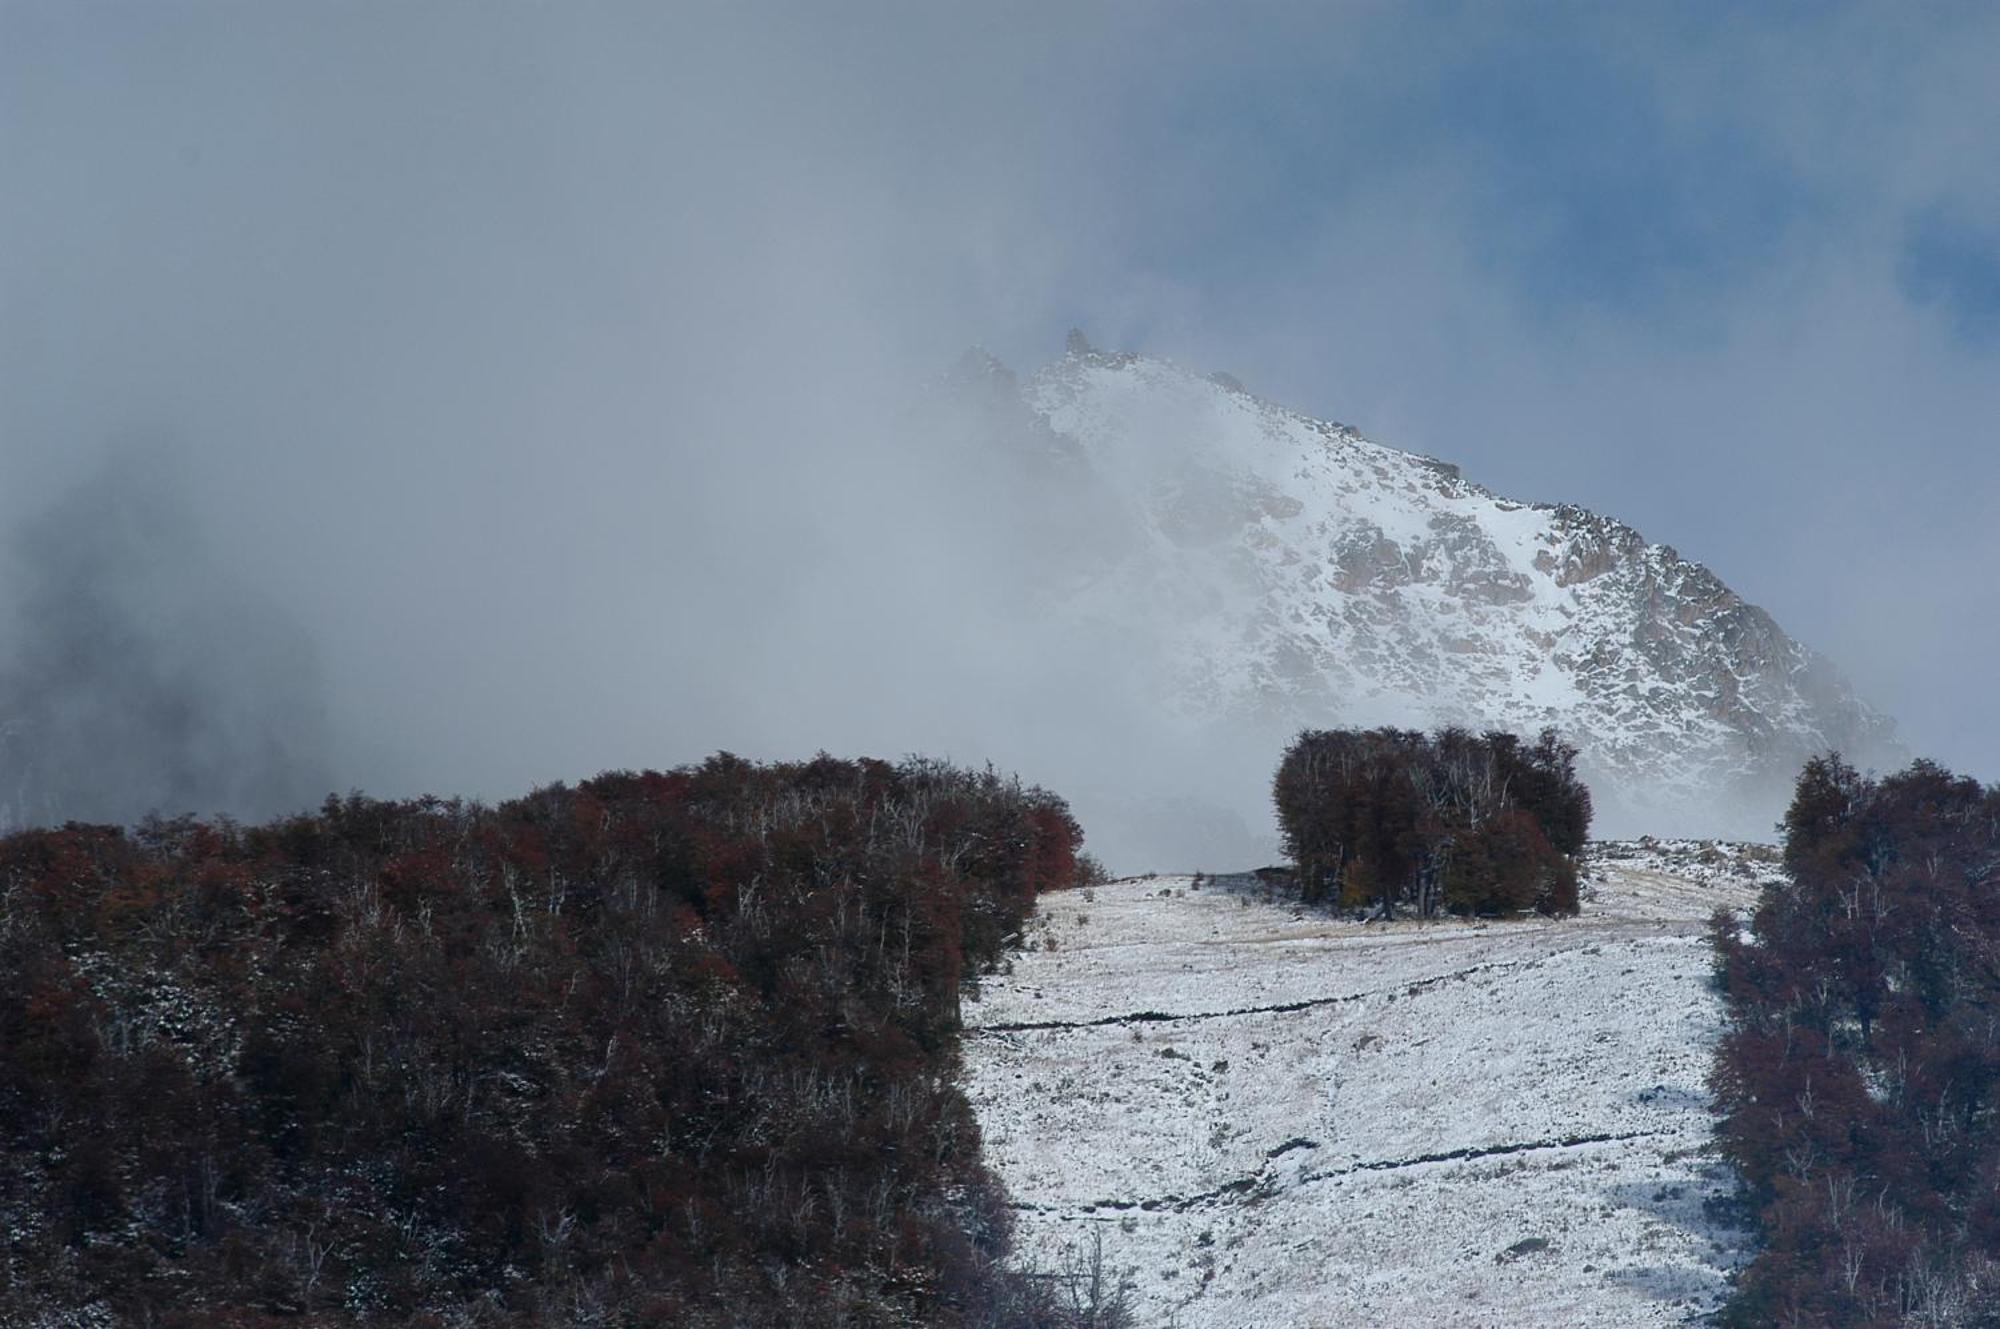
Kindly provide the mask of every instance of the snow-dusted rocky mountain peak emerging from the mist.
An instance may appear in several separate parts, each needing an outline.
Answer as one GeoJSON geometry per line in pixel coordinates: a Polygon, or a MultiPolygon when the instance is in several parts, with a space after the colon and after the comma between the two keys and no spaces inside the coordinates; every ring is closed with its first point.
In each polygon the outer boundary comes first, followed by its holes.
{"type": "Polygon", "coordinates": [[[1100,494],[1058,612],[1164,658],[1182,715],[1554,725],[1616,825],[1706,835],[1766,835],[1814,751],[1892,753],[1826,660],[1616,520],[1080,336],[1018,394],[1066,492],[1080,458],[1100,494]]]}

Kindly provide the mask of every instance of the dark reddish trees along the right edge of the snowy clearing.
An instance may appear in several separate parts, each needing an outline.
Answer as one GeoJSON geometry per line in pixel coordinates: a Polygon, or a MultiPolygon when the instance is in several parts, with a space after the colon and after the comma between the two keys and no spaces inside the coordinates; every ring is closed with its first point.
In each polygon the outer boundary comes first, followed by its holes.
{"type": "Polygon", "coordinates": [[[1712,1087],[1764,1249],[1736,1325],[2000,1323],[2000,789],[1812,761],[1718,915],[1712,1087]]]}

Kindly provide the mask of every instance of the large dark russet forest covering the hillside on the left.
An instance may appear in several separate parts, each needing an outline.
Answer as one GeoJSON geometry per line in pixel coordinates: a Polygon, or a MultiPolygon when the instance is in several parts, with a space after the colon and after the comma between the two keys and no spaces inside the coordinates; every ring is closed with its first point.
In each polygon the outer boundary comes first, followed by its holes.
{"type": "Polygon", "coordinates": [[[4,839],[0,1323],[1064,1325],[954,1071],[1080,839],[728,755],[4,839]]]}

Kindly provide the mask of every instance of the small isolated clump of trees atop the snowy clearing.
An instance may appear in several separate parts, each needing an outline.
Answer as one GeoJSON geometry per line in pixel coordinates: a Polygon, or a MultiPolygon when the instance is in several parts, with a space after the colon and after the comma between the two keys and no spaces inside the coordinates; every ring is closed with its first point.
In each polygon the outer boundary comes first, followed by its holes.
{"type": "Polygon", "coordinates": [[[1272,785],[1308,903],[1576,913],[1590,791],[1554,731],[1306,731],[1272,785]]]}

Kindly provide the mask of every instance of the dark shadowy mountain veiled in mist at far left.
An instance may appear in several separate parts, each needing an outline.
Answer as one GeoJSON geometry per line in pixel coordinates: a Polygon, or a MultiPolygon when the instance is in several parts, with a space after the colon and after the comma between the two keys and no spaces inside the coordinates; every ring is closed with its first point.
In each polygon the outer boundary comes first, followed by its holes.
{"type": "Polygon", "coordinates": [[[168,466],[118,454],[22,522],[4,568],[0,831],[326,797],[314,646],[216,562],[168,466]]]}

